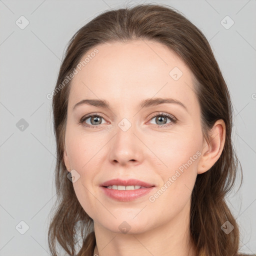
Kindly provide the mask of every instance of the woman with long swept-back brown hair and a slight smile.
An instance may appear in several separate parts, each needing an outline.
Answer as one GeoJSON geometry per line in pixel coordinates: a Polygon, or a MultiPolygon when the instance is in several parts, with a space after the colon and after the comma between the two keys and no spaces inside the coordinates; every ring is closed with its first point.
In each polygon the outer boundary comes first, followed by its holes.
{"type": "Polygon", "coordinates": [[[238,255],[232,105],[189,20],[156,4],[105,11],[71,38],[52,95],[51,255],[56,241],[79,256],[238,255]]]}

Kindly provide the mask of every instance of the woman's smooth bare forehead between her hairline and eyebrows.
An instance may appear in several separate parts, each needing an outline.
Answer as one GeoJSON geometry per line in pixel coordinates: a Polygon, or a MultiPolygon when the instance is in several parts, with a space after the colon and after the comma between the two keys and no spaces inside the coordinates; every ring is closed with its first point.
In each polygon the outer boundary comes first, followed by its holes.
{"type": "Polygon", "coordinates": [[[133,104],[154,96],[172,97],[187,105],[196,103],[190,69],[159,42],[103,43],[86,52],[81,61],[86,56],[86,64],[77,69],[71,82],[72,105],[84,98],[133,104]],[[90,55],[95,49],[98,52],[90,55]]]}

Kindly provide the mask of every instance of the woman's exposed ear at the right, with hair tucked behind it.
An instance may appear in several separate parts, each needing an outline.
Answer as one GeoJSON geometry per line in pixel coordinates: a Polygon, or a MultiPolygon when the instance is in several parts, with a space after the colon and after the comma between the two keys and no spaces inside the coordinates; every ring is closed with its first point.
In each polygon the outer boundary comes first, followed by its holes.
{"type": "Polygon", "coordinates": [[[225,143],[225,122],[217,120],[209,132],[209,141],[204,138],[197,174],[201,174],[217,161],[225,143]]]}

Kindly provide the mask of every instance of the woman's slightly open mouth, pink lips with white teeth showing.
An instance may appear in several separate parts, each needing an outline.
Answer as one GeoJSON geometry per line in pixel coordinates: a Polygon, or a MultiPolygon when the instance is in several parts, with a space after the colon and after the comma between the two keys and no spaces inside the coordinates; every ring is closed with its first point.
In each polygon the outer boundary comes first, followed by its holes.
{"type": "Polygon", "coordinates": [[[100,184],[105,195],[117,201],[131,201],[149,193],[155,185],[138,179],[111,179],[100,184]]]}

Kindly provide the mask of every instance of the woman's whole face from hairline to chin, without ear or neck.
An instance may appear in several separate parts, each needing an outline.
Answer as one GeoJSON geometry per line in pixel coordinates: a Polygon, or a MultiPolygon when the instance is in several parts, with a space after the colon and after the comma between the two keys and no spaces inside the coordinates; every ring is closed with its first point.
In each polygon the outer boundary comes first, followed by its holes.
{"type": "Polygon", "coordinates": [[[74,169],[76,196],[94,225],[113,232],[183,223],[204,147],[192,73],[158,42],[96,49],[77,69],[68,98],[64,161],[74,169]],[[100,116],[80,122],[90,114],[100,116]]]}

